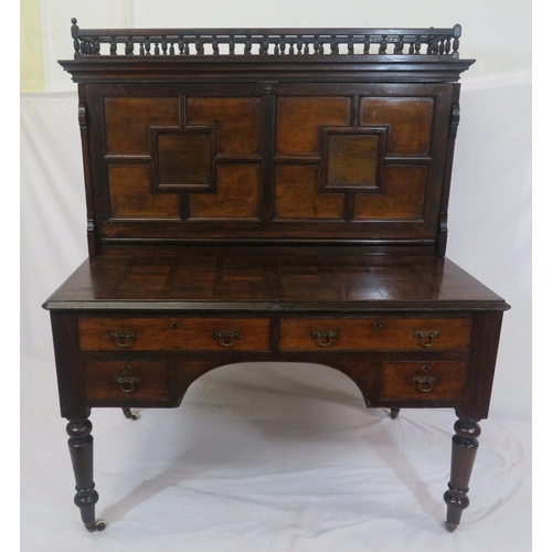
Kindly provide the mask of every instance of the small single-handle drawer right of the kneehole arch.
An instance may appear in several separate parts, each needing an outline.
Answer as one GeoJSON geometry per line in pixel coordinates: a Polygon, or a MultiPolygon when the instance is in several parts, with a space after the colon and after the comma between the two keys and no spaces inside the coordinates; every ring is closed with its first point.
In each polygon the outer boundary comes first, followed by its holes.
{"type": "Polygon", "coordinates": [[[467,362],[383,362],[381,400],[463,399],[467,362]]]}

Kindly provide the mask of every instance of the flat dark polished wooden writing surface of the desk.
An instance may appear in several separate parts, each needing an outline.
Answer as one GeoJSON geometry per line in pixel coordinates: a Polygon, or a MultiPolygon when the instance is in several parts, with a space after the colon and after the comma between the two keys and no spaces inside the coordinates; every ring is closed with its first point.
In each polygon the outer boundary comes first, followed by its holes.
{"type": "MultiPolygon", "coordinates": [[[[322,250],[322,251],[320,251],[322,250]]],[[[49,309],[506,309],[448,258],[189,247],[86,259],[49,309]]]]}

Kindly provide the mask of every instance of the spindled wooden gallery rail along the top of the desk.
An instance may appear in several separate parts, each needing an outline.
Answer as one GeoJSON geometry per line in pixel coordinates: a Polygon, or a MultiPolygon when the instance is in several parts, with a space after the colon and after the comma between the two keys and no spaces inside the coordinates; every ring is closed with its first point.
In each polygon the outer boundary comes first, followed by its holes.
{"type": "Polygon", "coordinates": [[[79,29],[75,59],[142,55],[407,55],[459,59],[452,29],[79,29]]]}

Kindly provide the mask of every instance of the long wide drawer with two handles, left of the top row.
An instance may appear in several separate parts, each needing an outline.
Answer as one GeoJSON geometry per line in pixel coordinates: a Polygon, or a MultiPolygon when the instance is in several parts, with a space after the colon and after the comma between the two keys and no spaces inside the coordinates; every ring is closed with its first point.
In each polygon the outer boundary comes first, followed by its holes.
{"type": "Polygon", "coordinates": [[[267,351],[270,320],[251,318],[81,318],[83,351],[267,351]]]}

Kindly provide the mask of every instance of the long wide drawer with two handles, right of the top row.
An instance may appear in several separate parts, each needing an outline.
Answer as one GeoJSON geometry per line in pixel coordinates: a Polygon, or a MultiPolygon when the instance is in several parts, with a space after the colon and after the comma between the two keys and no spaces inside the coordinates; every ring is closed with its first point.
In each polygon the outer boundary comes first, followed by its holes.
{"type": "Polygon", "coordinates": [[[295,318],[280,321],[280,351],[469,349],[468,318],[295,318]]]}

